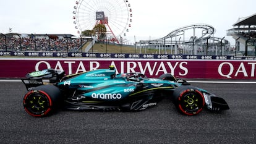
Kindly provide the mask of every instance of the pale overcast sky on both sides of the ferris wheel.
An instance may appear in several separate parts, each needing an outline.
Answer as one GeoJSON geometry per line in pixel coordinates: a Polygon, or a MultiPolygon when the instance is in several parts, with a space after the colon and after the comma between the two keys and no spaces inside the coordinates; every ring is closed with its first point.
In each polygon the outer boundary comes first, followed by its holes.
{"type": "MultiPolygon", "coordinates": [[[[89,0],[85,0],[89,1],[89,0]]],[[[107,1],[107,0],[106,0],[107,1]]],[[[123,0],[120,0],[123,1],[123,0]]],[[[77,34],[74,28],[75,0],[0,0],[0,33],[77,34]]],[[[256,14],[255,0],[129,0],[132,27],[127,40],[161,38],[187,25],[206,23],[215,27],[216,37],[226,37],[239,18],[256,14]]]]}

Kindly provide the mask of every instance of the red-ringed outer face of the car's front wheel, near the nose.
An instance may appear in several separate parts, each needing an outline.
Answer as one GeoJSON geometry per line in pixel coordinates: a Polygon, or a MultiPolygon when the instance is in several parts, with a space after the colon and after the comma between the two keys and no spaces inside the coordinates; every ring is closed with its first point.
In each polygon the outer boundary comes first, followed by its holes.
{"type": "Polygon", "coordinates": [[[199,91],[190,91],[179,97],[179,108],[184,114],[198,114],[198,112],[202,111],[203,106],[203,96],[199,91]]]}

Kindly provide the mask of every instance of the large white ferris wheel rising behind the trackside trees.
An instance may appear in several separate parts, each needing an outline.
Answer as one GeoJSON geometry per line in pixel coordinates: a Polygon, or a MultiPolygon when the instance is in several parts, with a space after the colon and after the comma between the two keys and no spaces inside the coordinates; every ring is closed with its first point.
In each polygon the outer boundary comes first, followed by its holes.
{"type": "Polygon", "coordinates": [[[104,24],[107,39],[117,43],[129,32],[132,22],[132,8],[128,0],[75,1],[73,14],[77,33],[93,30],[95,25],[104,24]]]}

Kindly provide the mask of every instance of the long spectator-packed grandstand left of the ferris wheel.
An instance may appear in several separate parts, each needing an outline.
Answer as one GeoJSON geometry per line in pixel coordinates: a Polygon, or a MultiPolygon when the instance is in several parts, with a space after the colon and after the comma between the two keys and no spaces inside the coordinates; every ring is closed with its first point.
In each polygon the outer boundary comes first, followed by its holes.
{"type": "Polygon", "coordinates": [[[0,35],[0,51],[59,51],[77,52],[87,42],[70,34],[20,34],[0,35]]]}

